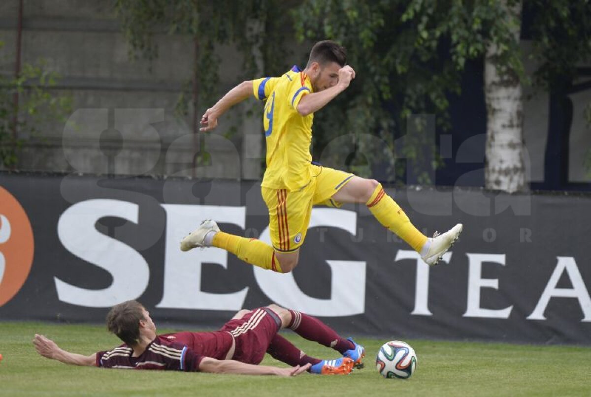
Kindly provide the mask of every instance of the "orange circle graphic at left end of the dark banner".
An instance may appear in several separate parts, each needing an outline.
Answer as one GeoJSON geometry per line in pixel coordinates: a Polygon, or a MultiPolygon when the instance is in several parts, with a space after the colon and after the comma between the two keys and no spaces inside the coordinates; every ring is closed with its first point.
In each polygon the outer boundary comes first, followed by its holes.
{"type": "Polygon", "coordinates": [[[33,265],[33,229],[21,203],[0,186],[0,306],[25,284],[33,265]]]}

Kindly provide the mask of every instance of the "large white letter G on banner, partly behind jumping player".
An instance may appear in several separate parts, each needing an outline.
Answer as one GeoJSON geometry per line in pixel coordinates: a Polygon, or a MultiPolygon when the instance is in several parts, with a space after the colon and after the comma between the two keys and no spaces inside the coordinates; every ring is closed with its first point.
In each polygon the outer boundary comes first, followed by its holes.
{"type": "MultiPolygon", "coordinates": [[[[355,236],[357,213],[339,209],[313,209],[309,227],[320,226],[338,227],[355,236]]],[[[261,233],[260,240],[271,243],[268,227],[261,233]]],[[[262,292],[277,304],[311,315],[340,317],[364,313],[366,262],[326,262],[332,270],[330,299],[312,298],[304,294],[292,273],[278,274],[255,266],[256,282],[262,292]]]]}

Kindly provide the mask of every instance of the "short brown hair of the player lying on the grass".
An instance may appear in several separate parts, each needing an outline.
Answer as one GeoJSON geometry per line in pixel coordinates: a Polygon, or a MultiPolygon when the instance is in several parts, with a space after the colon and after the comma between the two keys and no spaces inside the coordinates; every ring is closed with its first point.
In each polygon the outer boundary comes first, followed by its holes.
{"type": "Polygon", "coordinates": [[[115,305],[107,314],[107,329],[128,345],[138,343],[139,320],[145,320],[144,307],[137,301],[115,305]]]}

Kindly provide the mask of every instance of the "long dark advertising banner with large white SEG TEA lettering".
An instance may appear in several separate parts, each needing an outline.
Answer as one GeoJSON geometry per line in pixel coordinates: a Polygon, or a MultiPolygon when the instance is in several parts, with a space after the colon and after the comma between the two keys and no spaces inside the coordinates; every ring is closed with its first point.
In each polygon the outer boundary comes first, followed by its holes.
{"type": "Polygon", "coordinates": [[[464,224],[440,265],[350,204],[314,208],[289,274],[181,252],[204,219],[269,242],[258,182],[0,174],[0,319],[100,323],[137,299],[194,329],[276,303],[346,334],[591,344],[591,197],[386,191],[426,235],[464,224]]]}

